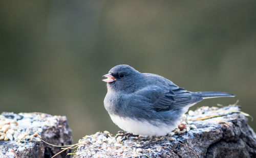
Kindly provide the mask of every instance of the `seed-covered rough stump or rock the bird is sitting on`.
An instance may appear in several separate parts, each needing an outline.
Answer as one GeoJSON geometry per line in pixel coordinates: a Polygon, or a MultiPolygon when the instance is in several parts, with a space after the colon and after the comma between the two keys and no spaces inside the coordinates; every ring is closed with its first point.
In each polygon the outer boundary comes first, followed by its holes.
{"type": "Polygon", "coordinates": [[[148,149],[135,146],[150,137],[115,140],[104,131],[80,140],[74,157],[256,157],[256,135],[238,106],[201,107],[188,114],[187,122],[194,125],[185,133],[156,139],[148,149]]]}

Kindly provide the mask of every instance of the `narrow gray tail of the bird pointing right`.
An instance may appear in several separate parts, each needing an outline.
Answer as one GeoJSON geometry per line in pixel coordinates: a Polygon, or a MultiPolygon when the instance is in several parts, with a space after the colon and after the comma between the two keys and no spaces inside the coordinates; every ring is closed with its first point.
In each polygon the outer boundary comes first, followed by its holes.
{"type": "Polygon", "coordinates": [[[217,98],[217,97],[234,97],[236,95],[225,92],[191,92],[192,96],[199,96],[203,99],[217,98]]]}

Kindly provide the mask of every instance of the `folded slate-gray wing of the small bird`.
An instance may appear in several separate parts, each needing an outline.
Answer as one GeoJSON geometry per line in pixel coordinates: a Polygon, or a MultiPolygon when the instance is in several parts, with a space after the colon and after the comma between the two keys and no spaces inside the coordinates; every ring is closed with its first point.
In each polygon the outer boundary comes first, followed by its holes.
{"type": "Polygon", "coordinates": [[[182,109],[188,104],[196,103],[203,99],[199,96],[192,96],[189,91],[176,85],[168,88],[148,86],[135,93],[140,97],[143,96],[147,101],[150,100],[150,104],[155,111],[182,109]]]}

